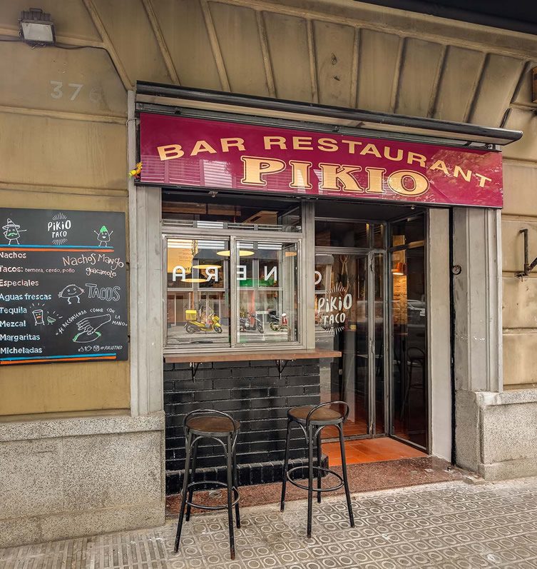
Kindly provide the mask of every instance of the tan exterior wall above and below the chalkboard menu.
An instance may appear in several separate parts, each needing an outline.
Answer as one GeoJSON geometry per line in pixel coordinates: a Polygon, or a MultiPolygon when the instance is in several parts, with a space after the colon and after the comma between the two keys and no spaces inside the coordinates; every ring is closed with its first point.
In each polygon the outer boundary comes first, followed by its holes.
{"type": "MultiPolygon", "coordinates": [[[[0,43],[0,205],[128,211],[126,91],[101,49],[0,43]]],[[[127,410],[129,363],[3,367],[0,417],[127,410]]]]}

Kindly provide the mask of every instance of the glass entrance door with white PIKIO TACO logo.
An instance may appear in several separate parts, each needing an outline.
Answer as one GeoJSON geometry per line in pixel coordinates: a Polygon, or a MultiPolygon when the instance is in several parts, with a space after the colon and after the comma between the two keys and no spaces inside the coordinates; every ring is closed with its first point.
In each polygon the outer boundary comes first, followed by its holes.
{"type": "MultiPolygon", "coordinates": [[[[318,348],[340,358],[321,361],[321,401],[345,401],[346,438],[384,433],[384,256],[342,248],[315,253],[318,348]]],[[[324,438],[337,435],[326,428],[324,438]]]]}

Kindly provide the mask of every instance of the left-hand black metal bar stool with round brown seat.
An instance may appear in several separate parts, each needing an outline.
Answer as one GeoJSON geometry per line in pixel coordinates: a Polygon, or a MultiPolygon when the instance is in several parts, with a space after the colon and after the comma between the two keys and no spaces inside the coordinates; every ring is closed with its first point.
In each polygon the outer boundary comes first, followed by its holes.
{"type": "Polygon", "coordinates": [[[233,506],[235,506],[235,516],[237,518],[237,528],[240,528],[239,513],[239,486],[237,477],[237,436],[240,430],[239,421],[235,421],[227,413],[215,411],[213,409],[199,409],[191,411],[183,419],[183,428],[186,437],[186,458],[185,476],[183,478],[183,494],[181,497],[181,508],[175,535],[175,553],[179,548],[181,530],[183,528],[183,516],[186,510],[186,520],[190,519],[190,508],[201,508],[203,510],[225,510],[227,508],[227,520],[230,530],[230,553],[231,558],[235,559],[235,535],[233,534],[233,506]],[[224,448],[224,455],[227,465],[227,484],[218,480],[203,480],[200,482],[190,482],[194,480],[196,471],[196,458],[198,457],[198,443],[202,438],[212,438],[217,440],[224,448]],[[192,475],[190,475],[190,459],[192,458],[192,475]],[[200,486],[215,485],[227,489],[227,505],[205,505],[193,501],[195,489],[200,486]],[[232,497],[233,494],[233,497],[232,497]],[[187,499],[188,496],[188,499],[187,499]]]}

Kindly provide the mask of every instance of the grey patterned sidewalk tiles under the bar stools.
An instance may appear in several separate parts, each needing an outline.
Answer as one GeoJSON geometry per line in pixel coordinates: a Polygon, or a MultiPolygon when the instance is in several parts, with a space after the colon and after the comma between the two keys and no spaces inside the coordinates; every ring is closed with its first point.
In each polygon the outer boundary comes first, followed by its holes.
{"type": "Polygon", "coordinates": [[[537,478],[436,483],[241,510],[237,559],[227,513],[195,515],[173,553],[175,520],[138,530],[0,550],[1,569],[537,568],[537,478]]]}

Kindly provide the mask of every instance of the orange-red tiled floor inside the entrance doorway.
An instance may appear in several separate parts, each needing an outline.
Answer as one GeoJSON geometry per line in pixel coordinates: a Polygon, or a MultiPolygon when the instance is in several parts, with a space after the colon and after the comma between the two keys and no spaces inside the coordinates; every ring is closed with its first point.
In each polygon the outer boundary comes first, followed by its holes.
{"type": "MultiPolygon", "coordinates": [[[[328,456],[330,467],[341,466],[339,443],[322,443],[322,452],[328,456]]],[[[389,437],[345,441],[347,464],[374,463],[421,456],[426,456],[426,453],[389,437]]]]}

